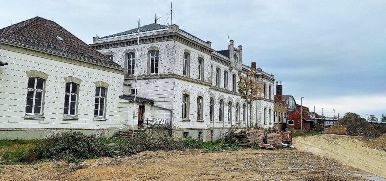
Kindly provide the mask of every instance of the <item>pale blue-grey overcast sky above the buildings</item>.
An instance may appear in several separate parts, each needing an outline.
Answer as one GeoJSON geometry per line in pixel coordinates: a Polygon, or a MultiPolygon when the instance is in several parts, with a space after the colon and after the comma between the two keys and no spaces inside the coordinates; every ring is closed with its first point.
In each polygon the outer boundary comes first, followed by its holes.
{"type": "MultiPolygon", "coordinates": [[[[53,19],[86,43],[154,22],[170,24],[170,1],[4,1],[0,27],[53,19]]],[[[386,114],[386,1],[173,1],[173,24],[215,50],[228,36],[283,81],[283,94],[331,116],[386,114]]],[[[276,92],[276,91],[275,91],[276,92]]]]}

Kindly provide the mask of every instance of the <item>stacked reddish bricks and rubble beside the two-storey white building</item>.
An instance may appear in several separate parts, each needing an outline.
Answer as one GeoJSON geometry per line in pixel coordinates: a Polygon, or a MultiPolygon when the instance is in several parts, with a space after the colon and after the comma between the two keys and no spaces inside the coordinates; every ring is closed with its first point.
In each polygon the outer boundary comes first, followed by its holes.
{"type": "MultiPolygon", "coordinates": [[[[261,129],[251,128],[249,130],[238,130],[235,132],[235,139],[238,145],[245,147],[253,147],[255,145],[264,144],[265,131],[261,129]]],[[[272,146],[281,146],[281,143],[291,145],[291,132],[286,131],[267,131],[266,143],[272,146]]]]}

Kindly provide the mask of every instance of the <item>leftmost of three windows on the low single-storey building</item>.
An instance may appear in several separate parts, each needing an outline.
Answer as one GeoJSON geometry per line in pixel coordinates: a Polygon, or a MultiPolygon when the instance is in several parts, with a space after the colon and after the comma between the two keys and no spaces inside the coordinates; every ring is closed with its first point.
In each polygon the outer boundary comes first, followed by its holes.
{"type": "Polygon", "coordinates": [[[42,115],[44,80],[28,78],[26,114],[42,115]]]}

